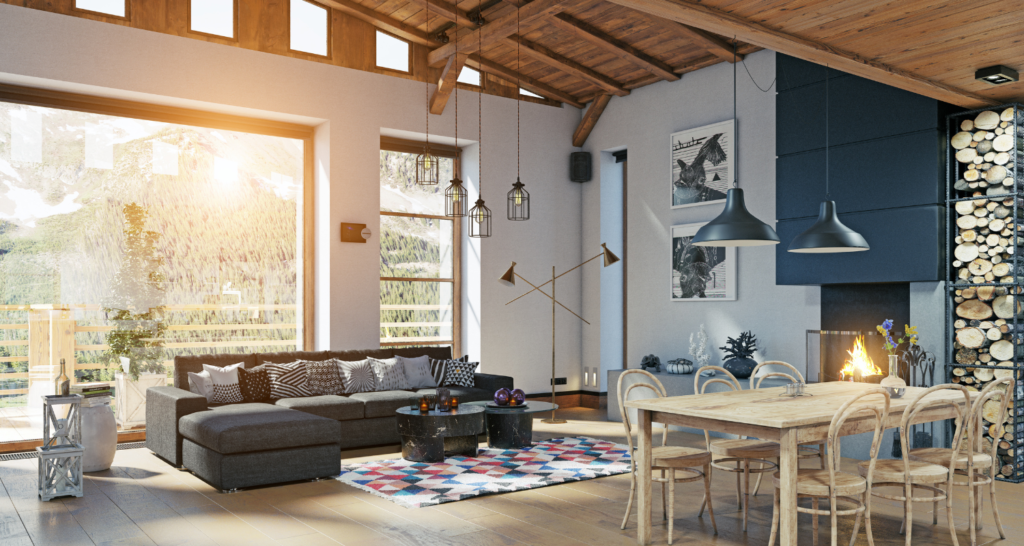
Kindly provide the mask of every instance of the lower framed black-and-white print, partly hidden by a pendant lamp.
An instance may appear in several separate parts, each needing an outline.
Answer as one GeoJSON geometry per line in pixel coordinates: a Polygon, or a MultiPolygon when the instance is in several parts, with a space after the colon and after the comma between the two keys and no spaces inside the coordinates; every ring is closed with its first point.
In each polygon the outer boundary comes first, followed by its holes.
{"type": "Polygon", "coordinates": [[[669,269],[671,301],[735,301],[736,248],[691,244],[703,223],[673,225],[669,269]]]}

